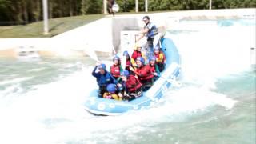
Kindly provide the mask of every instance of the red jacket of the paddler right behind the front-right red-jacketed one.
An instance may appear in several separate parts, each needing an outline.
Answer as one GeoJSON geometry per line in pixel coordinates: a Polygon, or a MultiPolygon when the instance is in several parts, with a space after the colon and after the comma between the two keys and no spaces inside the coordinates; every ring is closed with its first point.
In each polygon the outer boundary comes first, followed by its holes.
{"type": "Polygon", "coordinates": [[[139,67],[135,71],[140,74],[139,75],[140,80],[149,80],[151,78],[154,78],[154,75],[150,71],[149,65],[139,67]]]}

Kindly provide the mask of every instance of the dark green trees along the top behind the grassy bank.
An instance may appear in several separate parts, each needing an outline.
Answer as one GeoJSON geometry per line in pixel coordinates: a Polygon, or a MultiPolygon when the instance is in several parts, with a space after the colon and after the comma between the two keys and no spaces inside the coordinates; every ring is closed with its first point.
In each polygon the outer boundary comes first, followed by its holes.
{"type": "MultiPolygon", "coordinates": [[[[134,12],[135,0],[116,0],[120,12],[134,12]]],[[[145,1],[138,0],[139,11],[145,1]]],[[[48,0],[49,17],[101,14],[103,0],[48,0]]],[[[148,0],[149,11],[204,10],[209,0],[148,0]]],[[[212,0],[212,9],[256,7],[256,0],[212,0]]],[[[42,0],[0,0],[0,26],[26,24],[42,20],[42,0]]]]}

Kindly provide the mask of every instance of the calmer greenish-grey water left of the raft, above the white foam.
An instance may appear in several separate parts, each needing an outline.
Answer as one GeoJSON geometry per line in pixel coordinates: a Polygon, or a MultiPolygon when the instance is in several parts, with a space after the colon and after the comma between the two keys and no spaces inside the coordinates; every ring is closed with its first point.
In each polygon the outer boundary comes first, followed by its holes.
{"type": "Polygon", "coordinates": [[[90,58],[41,58],[34,60],[15,60],[0,58],[0,90],[11,86],[13,93],[26,93],[34,90],[34,86],[58,81],[82,66],[90,66],[90,58]]]}

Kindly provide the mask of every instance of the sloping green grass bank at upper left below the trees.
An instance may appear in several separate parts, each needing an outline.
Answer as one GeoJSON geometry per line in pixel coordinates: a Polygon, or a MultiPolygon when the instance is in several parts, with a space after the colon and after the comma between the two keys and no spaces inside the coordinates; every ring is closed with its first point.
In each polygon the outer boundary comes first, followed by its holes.
{"type": "Polygon", "coordinates": [[[18,26],[0,26],[0,38],[49,38],[103,17],[103,14],[92,14],[49,19],[50,34],[47,35],[43,34],[42,21],[18,26]]]}

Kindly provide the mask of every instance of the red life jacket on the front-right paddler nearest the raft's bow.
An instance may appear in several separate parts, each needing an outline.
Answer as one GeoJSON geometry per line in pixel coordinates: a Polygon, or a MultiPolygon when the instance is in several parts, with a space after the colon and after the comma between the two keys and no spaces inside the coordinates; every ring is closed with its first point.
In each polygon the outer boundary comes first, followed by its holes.
{"type": "Polygon", "coordinates": [[[129,75],[126,82],[127,90],[130,92],[134,92],[142,87],[142,83],[138,81],[134,75],[129,75]]]}

